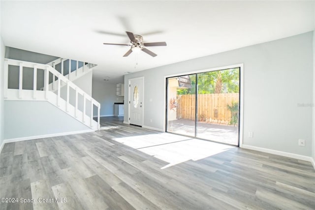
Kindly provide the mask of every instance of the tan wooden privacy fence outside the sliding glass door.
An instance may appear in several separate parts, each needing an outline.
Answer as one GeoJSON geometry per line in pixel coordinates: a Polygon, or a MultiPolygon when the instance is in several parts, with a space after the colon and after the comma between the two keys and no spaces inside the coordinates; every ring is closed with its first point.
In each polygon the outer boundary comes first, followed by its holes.
{"type": "MultiPolygon", "coordinates": [[[[238,93],[198,94],[198,121],[229,125],[232,102],[239,102],[238,93]]],[[[195,120],[195,95],[177,95],[176,117],[195,120]]]]}

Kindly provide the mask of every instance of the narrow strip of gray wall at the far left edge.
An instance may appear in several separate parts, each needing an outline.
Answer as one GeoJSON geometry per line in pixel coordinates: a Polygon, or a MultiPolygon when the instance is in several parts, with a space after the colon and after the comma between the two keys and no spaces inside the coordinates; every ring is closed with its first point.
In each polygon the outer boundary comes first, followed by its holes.
{"type": "Polygon", "coordinates": [[[5,47],[0,36],[0,147],[4,140],[4,99],[3,99],[3,72],[5,47]]]}

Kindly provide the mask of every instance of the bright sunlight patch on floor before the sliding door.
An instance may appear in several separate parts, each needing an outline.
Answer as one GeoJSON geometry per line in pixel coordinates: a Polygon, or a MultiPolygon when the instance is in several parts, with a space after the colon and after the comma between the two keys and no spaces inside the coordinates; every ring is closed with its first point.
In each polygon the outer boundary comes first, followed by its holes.
{"type": "Polygon", "coordinates": [[[124,137],[114,140],[169,163],[161,169],[189,160],[200,160],[235,148],[234,146],[191,139],[170,133],[124,137]]]}

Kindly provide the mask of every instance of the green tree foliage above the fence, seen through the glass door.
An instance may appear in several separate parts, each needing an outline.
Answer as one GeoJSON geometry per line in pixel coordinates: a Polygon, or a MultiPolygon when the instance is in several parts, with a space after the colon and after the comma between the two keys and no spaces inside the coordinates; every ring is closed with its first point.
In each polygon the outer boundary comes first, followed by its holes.
{"type": "MultiPolygon", "coordinates": [[[[239,68],[198,73],[198,94],[238,93],[239,68]]],[[[196,76],[189,75],[191,88],[178,89],[178,95],[196,93],[196,76]]]]}

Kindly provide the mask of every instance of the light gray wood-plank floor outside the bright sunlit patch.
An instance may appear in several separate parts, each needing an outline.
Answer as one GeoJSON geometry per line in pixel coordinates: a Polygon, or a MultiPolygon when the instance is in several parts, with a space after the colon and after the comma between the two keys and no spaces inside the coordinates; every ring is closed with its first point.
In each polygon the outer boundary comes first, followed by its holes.
{"type": "Polygon", "coordinates": [[[112,140],[159,132],[115,117],[101,124],[110,127],[6,143],[0,197],[18,201],[0,209],[315,209],[309,162],[235,147],[161,169],[168,163],[112,140]]]}

